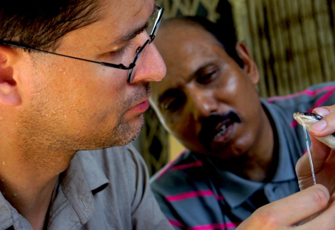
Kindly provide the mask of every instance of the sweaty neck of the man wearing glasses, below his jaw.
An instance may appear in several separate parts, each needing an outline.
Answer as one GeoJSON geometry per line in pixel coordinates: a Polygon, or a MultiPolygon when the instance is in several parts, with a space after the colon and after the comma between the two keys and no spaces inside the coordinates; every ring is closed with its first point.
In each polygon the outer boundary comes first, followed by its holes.
{"type": "Polygon", "coordinates": [[[22,114],[24,110],[19,109],[1,114],[0,131],[5,135],[0,140],[0,191],[39,230],[59,174],[67,169],[75,151],[60,146],[64,140],[45,135],[33,122],[27,125],[22,114]]]}

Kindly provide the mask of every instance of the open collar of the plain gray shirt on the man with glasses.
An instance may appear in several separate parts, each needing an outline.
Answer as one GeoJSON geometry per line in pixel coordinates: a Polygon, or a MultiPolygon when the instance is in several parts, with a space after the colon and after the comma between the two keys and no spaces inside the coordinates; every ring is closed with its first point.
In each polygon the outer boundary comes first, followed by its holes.
{"type": "MultiPolygon", "coordinates": [[[[93,158],[93,155],[99,154],[99,151],[102,150],[81,151],[74,155],[67,170],[60,174],[61,191],[57,191],[60,188],[57,183],[50,210],[64,207],[62,205],[68,200],[82,225],[93,215],[95,210],[93,194],[105,188],[109,183],[101,166],[93,158]],[[63,192],[65,196],[62,196],[63,192]]],[[[0,229],[7,229],[12,225],[15,229],[32,229],[29,222],[17,213],[17,210],[3,197],[1,192],[0,210],[0,229]]]]}

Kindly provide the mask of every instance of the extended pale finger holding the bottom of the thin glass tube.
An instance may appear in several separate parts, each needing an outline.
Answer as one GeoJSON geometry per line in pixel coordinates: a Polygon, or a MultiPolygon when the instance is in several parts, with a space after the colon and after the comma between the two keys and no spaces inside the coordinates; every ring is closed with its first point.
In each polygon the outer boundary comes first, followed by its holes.
{"type": "Polygon", "coordinates": [[[265,229],[275,226],[293,226],[303,219],[323,210],[328,203],[326,187],[317,184],[291,196],[269,203],[256,210],[256,218],[262,219],[265,229]]]}

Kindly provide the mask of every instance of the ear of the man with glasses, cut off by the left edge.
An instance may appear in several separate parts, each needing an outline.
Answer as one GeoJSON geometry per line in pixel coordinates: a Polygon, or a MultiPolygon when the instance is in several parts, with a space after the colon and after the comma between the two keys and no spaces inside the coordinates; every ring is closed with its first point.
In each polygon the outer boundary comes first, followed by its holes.
{"type": "Polygon", "coordinates": [[[0,45],[0,104],[17,106],[21,104],[17,82],[13,76],[13,63],[17,49],[0,45]]]}

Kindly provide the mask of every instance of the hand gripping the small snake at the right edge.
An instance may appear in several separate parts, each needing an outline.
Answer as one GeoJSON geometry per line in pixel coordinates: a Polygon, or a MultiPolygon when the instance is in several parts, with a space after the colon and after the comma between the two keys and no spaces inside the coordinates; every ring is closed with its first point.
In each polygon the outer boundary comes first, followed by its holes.
{"type": "MultiPolygon", "coordinates": [[[[322,115],[321,121],[309,129],[311,138],[311,155],[317,183],[326,186],[329,193],[335,193],[335,150],[319,142],[314,136],[327,136],[335,131],[335,105],[316,108],[314,113],[322,115]],[[322,122],[320,124],[320,122],[322,122]],[[326,124],[326,125],[325,125],[326,124]]],[[[304,154],[296,164],[300,189],[313,185],[308,154],[304,154]]]]}

